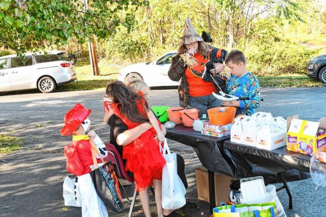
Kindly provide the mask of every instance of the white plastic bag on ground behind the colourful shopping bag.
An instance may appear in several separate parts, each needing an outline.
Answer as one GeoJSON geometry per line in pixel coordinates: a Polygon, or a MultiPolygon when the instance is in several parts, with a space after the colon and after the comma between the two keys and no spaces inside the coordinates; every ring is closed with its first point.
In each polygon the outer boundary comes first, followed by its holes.
{"type": "Polygon", "coordinates": [[[286,217],[283,205],[279,200],[276,194],[275,185],[266,186],[266,194],[261,196],[255,196],[251,198],[240,198],[241,203],[266,203],[266,202],[275,202],[276,203],[276,216],[277,217],[286,217]]]}

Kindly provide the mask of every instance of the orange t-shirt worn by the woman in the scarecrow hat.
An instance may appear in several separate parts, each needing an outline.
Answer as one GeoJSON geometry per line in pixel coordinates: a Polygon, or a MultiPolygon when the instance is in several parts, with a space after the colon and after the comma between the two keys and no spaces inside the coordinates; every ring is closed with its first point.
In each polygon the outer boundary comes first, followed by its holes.
{"type": "Polygon", "coordinates": [[[208,58],[205,59],[202,55],[195,53],[195,58],[198,64],[193,68],[186,69],[186,77],[189,84],[190,96],[205,96],[210,95],[212,92],[217,92],[216,87],[212,82],[207,82],[202,79],[202,72],[205,70],[205,65],[208,58]]]}

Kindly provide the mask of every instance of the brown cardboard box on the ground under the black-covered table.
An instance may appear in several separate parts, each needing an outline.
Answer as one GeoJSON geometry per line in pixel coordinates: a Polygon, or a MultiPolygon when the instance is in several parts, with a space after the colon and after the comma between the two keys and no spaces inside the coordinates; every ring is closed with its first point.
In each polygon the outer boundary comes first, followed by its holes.
{"type": "MultiPolygon", "coordinates": [[[[209,202],[209,188],[208,188],[208,170],[201,166],[195,170],[197,182],[198,199],[209,202]]],[[[221,202],[226,202],[230,192],[230,181],[233,178],[214,173],[215,184],[215,204],[218,206],[221,202]]]]}

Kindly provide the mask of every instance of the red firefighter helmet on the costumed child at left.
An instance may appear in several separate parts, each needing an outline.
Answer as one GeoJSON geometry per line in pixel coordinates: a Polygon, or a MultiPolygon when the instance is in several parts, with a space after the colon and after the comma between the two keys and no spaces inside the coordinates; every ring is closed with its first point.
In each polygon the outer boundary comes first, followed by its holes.
{"type": "Polygon", "coordinates": [[[84,105],[76,103],[64,116],[64,126],[60,131],[61,136],[72,134],[89,117],[91,112],[84,105]]]}

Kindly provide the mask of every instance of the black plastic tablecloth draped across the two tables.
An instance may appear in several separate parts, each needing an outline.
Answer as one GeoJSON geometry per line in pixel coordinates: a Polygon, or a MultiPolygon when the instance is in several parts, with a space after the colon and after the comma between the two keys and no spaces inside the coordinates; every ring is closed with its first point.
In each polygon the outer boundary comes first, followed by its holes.
{"type": "Polygon", "coordinates": [[[286,151],[285,147],[267,151],[234,144],[229,137],[202,135],[192,128],[177,125],[168,129],[168,139],[191,146],[204,167],[233,178],[264,176],[269,183],[281,182],[280,172],[287,181],[309,178],[310,156],[286,151]]]}

